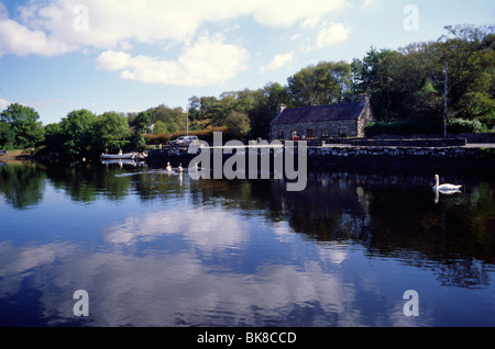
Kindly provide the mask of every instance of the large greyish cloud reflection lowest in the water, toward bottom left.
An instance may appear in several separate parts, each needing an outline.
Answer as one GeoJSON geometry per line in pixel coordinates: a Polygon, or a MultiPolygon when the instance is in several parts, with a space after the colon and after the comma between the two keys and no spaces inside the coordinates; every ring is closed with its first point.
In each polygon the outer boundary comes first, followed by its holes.
{"type": "MultiPolygon", "coordinates": [[[[23,279],[43,291],[40,308],[50,309],[50,326],[74,320],[70,290],[79,289],[91,294],[91,326],[317,326],[328,323],[329,316],[336,325],[360,324],[348,308],[355,294],[345,292],[343,280],[316,262],[304,268],[262,266],[248,274],[219,272],[186,252],[138,258],[118,252],[85,255],[51,245],[44,251],[47,256],[28,266],[21,260],[29,249],[4,246],[3,250],[13,258],[10,268],[15,272],[36,270],[23,279]],[[63,258],[63,264],[50,270],[54,257],[63,258]],[[311,314],[312,306],[319,316],[311,314]]],[[[8,270],[0,272],[9,277],[8,270]]],[[[1,282],[2,297],[25,288],[21,278],[9,282],[1,282]]]]}

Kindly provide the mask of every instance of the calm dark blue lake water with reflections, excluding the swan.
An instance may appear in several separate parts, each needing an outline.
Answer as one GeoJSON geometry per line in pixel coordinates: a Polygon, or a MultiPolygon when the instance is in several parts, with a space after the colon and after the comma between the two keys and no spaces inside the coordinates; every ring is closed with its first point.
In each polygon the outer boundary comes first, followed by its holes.
{"type": "Polygon", "coordinates": [[[0,326],[494,326],[495,179],[433,174],[3,164],[0,326]]]}

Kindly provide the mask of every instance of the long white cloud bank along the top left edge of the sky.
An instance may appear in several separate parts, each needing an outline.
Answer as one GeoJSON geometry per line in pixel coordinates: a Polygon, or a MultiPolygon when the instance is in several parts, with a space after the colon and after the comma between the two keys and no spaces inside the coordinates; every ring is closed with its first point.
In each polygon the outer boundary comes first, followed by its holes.
{"type": "Polygon", "coordinates": [[[116,49],[132,41],[187,42],[207,22],[252,16],[266,26],[314,25],[326,13],[343,9],[344,0],[79,0],[30,1],[16,8],[18,21],[0,9],[0,54],[55,55],[92,46],[116,49]],[[86,30],[80,22],[87,23],[86,30]],[[312,23],[312,24],[311,24],[312,23]]]}

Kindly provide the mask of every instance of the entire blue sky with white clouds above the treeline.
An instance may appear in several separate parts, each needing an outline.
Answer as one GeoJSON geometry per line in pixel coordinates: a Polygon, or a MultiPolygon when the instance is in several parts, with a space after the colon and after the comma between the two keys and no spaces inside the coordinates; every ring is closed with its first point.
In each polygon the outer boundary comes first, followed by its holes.
{"type": "Polygon", "coordinates": [[[0,110],[46,125],[88,109],[186,110],[190,97],[285,86],[319,61],[495,24],[493,0],[2,0],[0,110]]]}

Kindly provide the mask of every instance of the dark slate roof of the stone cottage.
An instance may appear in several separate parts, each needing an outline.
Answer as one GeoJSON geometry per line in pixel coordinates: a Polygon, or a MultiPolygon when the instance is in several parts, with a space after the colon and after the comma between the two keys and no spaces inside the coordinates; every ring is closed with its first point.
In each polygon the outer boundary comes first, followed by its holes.
{"type": "Polygon", "coordinates": [[[358,120],[364,108],[365,104],[355,102],[286,109],[272,120],[271,125],[358,120]]]}

